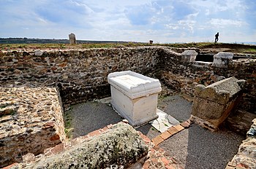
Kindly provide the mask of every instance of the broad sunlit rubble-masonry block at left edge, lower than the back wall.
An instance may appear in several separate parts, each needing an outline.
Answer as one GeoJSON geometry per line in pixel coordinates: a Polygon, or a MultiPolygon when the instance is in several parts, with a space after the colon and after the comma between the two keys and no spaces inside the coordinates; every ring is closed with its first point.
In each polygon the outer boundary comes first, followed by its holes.
{"type": "Polygon", "coordinates": [[[0,167],[65,139],[55,87],[0,87],[0,167]]]}

